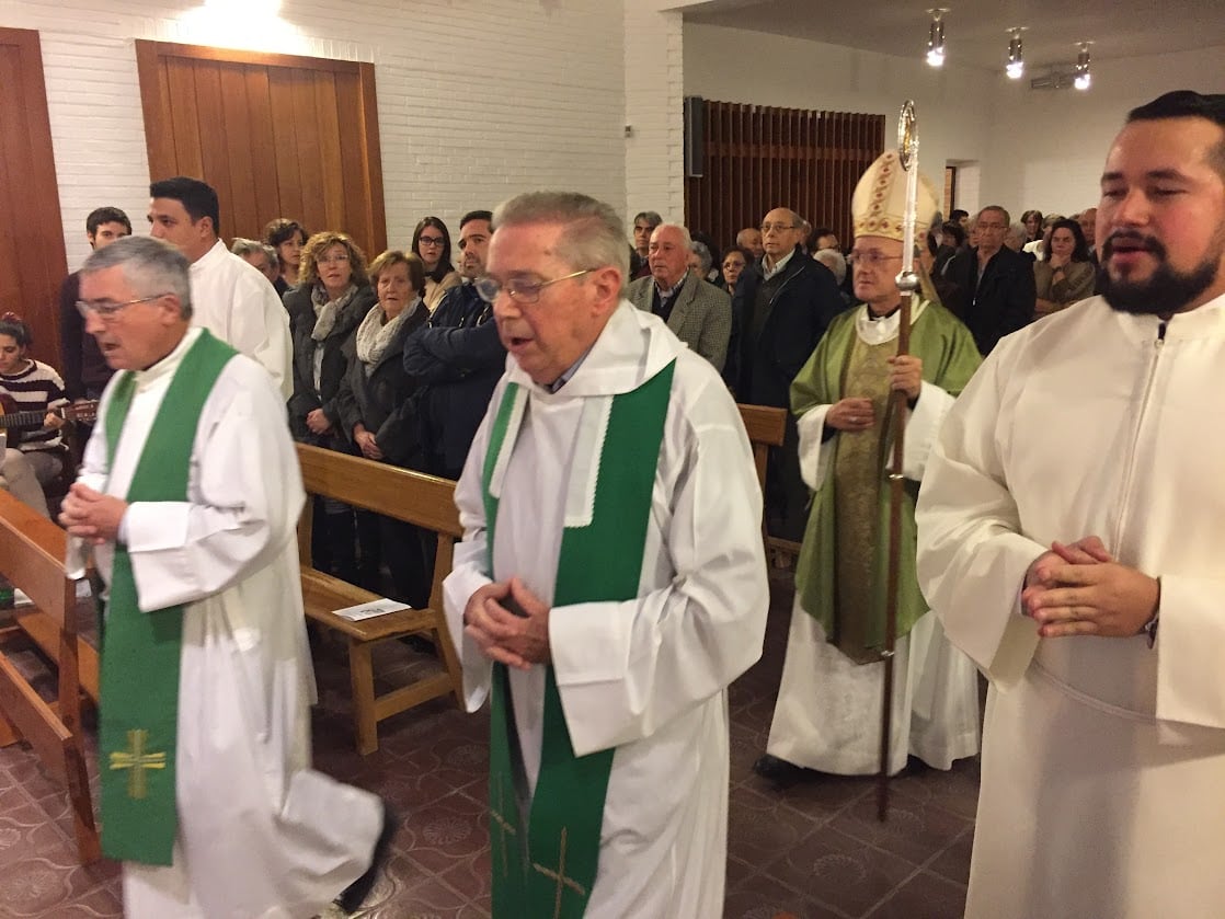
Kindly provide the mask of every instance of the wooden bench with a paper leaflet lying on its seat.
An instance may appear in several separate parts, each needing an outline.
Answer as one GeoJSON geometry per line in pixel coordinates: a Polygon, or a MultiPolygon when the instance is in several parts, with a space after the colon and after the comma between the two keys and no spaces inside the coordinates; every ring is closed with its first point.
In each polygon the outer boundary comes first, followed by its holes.
{"type": "MultiPolygon", "coordinates": [[[[314,501],[310,497],[298,524],[303,603],[306,616],[343,635],[348,642],[353,725],[358,752],[371,754],[379,749],[379,722],[385,718],[448,692],[453,692],[456,700],[462,702],[463,680],[459,660],[442,614],[442,578],[451,572],[454,542],[463,535],[459,513],[454,506],[454,483],[301,444],[298,445],[298,460],[301,463],[303,485],[307,495],[334,497],[354,507],[414,523],[437,534],[430,605],[426,609],[388,613],[352,622],[336,615],[333,610],[369,603],[376,599],[376,594],[311,566],[314,501]],[[375,695],[371,659],[375,646],[414,632],[432,633],[435,647],[442,656],[443,671],[415,680],[408,686],[375,695]]],[[[388,564],[394,565],[396,560],[388,559],[388,564]]]]}

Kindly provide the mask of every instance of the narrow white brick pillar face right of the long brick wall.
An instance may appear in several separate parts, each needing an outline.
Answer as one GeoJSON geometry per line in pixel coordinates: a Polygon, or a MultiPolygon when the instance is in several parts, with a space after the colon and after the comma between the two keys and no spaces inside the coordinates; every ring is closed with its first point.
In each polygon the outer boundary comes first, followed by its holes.
{"type": "Polygon", "coordinates": [[[625,197],[627,219],[658,211],[685,222],[684,38],[680,12],[625,1],[625,197]]]}

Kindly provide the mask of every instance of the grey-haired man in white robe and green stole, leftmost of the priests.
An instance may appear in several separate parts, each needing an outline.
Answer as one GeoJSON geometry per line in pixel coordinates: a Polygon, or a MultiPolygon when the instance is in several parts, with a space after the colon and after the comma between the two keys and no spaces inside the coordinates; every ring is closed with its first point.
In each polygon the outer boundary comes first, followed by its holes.
{"type": "Polygon", "coordinates": [[[369,892],[392,821],[310,766],[315,694],[284,407],[255,361],[190,328],[187,260],[98,250],[78,309],[108,364],[64,500],[72,576],[107,582],[102,847],[132,919],[289,919],[369,892]]]}

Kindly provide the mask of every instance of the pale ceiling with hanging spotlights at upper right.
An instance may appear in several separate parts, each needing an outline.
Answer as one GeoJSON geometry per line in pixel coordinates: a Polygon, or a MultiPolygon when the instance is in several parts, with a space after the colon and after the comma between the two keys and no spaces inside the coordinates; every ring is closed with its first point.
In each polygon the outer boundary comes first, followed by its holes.
{"type": "Polygon", "coordinates": [[[947,60],[984,70],[1003,67],[1012,26],[1027,27],[1030,74],[1074,61],[1082,40],[1094,60],[1225,44],[1225,0],[709,0],[685,21],[922,56],[935,6],[949,10],[947,60]]]}

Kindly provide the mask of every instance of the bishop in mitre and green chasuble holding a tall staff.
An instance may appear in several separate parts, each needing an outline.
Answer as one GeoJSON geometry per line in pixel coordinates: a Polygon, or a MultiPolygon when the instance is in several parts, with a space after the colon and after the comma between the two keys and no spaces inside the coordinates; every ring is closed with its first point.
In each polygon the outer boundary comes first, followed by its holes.
{"type": "MultiPolygon", "coordinates": [[[[916,235],[936,211],[919,181],[916,235]]],[[[974,337],[924,278],[911,304],[910,350],[898,355],[907,173],[882,153],[851,200],[855,297],[791,384],[800,472],[813,490],[796,562],[795,605],[767,752],[755,771],[791,782],[881,767],[889,577],[893,391],[907,393],[902,553],[898,559],[891,773],[908,755],[947,770],[979,750],[978,673],[927,611],[914,573],[914,496],[953,399],[979,366],[974,337]]],[[[915,266],[919,271],[921,268],[915,266]]]]}

